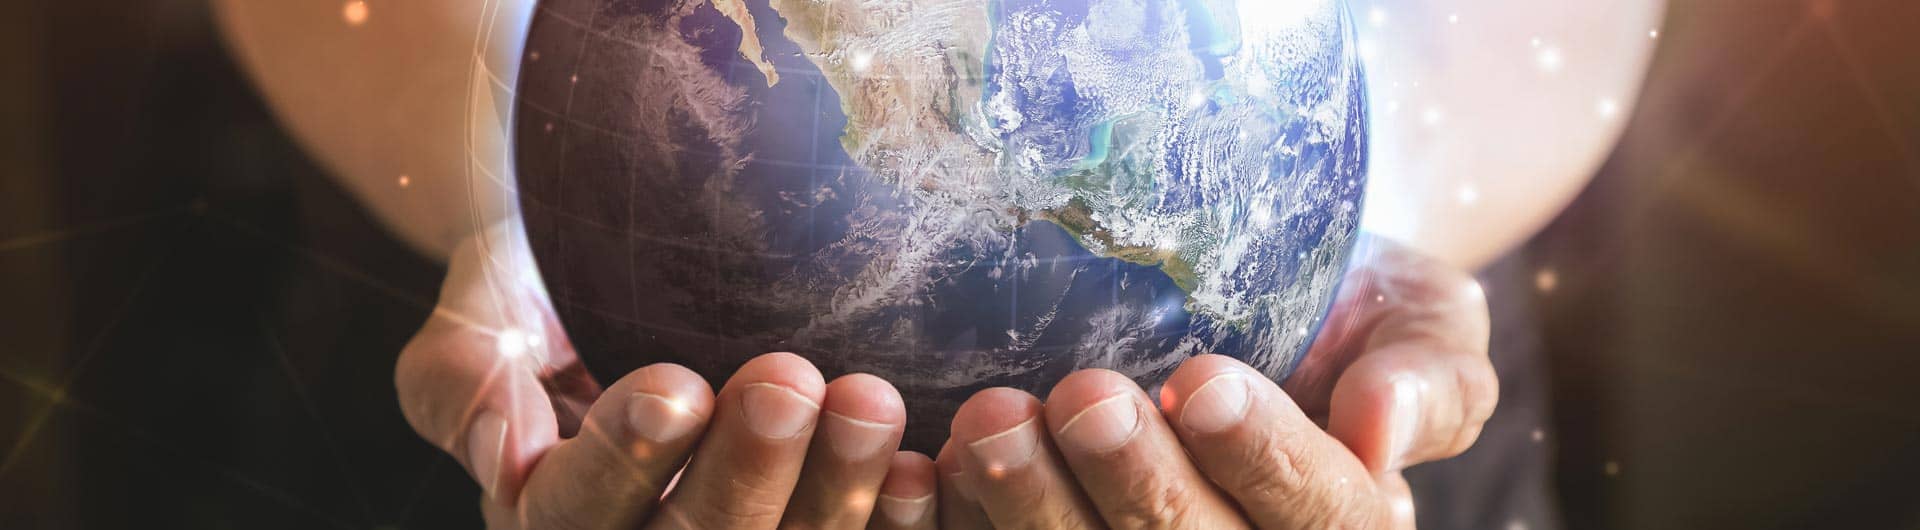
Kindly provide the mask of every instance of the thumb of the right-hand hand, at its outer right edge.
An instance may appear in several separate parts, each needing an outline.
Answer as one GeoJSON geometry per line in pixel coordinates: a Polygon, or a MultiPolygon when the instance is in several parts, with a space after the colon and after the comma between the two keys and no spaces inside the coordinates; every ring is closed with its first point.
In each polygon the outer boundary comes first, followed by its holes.
{"type": "Polygon", "coordinates": [[[1465,451],[1500,394],[1486,294],[1467,273],[1386,238],[1367,238],[1359,255],[1288,394],[1325,415],[1373,472],[1465,451]]]}

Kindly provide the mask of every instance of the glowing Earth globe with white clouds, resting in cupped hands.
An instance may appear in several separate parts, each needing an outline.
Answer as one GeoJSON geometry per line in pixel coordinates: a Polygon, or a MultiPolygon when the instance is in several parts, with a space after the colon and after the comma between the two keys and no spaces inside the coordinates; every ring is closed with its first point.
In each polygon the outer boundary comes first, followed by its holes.
{"type": "Polygon", "coordinates": [[[545,0],[513,154],[599,380],[795,351],[893,382],[929,451],[989,386],[1284,378],[1365,109],[1336,0],[545,0]]]}

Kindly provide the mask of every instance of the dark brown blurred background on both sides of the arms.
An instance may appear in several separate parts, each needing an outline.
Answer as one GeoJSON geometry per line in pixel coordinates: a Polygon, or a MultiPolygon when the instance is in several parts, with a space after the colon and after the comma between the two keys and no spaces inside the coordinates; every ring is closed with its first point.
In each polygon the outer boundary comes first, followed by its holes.
{"type": "MultiPolygon", "coordinates": [[[[0,528],[478,526],[392,386],[440,265],[205,6],[8,12],[0,528]]],[[[1619,150],[1505,263],[1569,526],[1920,528],[1920,2],[1674,0],[1619,150]]]]}

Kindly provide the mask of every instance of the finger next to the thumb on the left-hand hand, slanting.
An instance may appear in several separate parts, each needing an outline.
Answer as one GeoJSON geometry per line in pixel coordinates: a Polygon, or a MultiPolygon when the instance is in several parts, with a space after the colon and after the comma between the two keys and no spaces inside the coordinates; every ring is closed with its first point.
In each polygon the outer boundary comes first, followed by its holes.
{"type": "Polygon", "coordinates": [[[614,382],[588,409],[580,436],[534,467],[520,528],[634,528],[685,465],[714,409],[712,388],[678,365],[614,382]]]}

